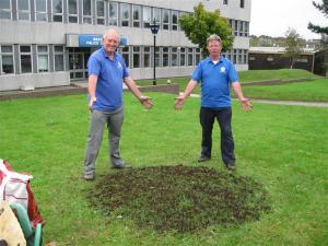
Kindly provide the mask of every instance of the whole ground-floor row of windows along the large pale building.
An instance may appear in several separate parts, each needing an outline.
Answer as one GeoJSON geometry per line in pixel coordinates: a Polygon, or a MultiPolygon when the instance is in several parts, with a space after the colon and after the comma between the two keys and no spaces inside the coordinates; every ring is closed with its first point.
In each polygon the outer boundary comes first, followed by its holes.
{"type": "MultiPolygon", "coordinates": [[[[80,50],[81,51],[81,50],[80,50]]],[[[129,68],[153,67],[153,47],[126,46],[118,50],[129,68]]],[[[0,46],[0,73],[32,73],[84,69],[89,54],[65,50],[63,46],[54,45],[2,45],[0,46]],[[78,55],[78,54],[77,54],[78,55]],[[86,55],[86,56],[84,56],[86,55]],[[69,66],[66,68],[66,57],[69,66]]],[[[236,65],[247,63],[246,49],[233,49],[224,54],[236,65]]],[[[201,59],[199,48],[189,47],[156,47],[156,67],[187,67],[196,66],[201,59]]]]}

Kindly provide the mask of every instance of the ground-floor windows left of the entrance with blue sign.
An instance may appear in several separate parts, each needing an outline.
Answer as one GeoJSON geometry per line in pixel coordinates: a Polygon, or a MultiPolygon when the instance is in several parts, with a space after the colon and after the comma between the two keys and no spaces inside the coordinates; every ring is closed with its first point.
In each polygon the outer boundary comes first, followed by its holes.
{"type": "Polygon", "coordinates": [[[63,71],[63,46],[1,45],[0,65],[1,74],[63,71]]]}

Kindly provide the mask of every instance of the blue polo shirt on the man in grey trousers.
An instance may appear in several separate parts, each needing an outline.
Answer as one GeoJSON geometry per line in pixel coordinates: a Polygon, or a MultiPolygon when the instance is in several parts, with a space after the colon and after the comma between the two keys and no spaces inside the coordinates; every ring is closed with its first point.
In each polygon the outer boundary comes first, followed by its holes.
{"type": "Polygon", "coordinates": [[[90,56],[87,72],[89,75],[98,77],[95,91],[97,101],[93,109],[112,112],[119,108],[122,105],[122,80],[129,75],[124,58],[115,52],[110,60],[102,47],[90,56]]]}

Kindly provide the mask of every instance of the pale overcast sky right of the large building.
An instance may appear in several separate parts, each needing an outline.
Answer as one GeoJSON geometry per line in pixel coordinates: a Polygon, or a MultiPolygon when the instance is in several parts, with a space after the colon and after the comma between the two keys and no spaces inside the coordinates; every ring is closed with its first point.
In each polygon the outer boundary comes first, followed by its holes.
{"type": "MultiPolygon", "coordinates": [[[[315,2],[323,3],[321,0],[315,2]]],[[[312,4],[312,0],[251,0],[250,35],[285,36],[292,27],[303,38],[320,38],[307,30],[308,22],[328,25],[328,17],[312,4]]]]}

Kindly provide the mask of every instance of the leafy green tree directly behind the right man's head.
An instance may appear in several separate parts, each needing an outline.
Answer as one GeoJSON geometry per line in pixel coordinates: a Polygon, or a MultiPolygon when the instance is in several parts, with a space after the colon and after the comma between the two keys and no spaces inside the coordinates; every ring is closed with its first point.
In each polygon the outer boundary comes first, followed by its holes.
{"type": "Polygon", "coordinates": [[[207,38],[211,34],[218,34],[222,38],[223,50],[232,48],[234,36],[227,19],[220,15],[220,11],[206,11],[202,3],[194,8],[194,14],[183,15],[179,24],[186,36],[199,48],[202,48],[202,55],[208,55],[207,38]]]}

